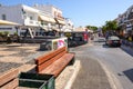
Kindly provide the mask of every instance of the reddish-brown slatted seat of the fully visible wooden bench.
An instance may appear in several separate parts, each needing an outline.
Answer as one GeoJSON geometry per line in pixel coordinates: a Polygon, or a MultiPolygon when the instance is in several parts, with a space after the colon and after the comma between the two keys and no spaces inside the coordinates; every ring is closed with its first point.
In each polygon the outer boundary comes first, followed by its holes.
{"type": "Polygon", "coordinates": [[[52,65],[50,65],[48,68],[42,70],[40,73],[50,73],[54,75],[54,77],[58,77],[60,72],[65,68],[65,66],[74,58],[74,53],[65,53],[60,59],[54,61],[52,65]]]}

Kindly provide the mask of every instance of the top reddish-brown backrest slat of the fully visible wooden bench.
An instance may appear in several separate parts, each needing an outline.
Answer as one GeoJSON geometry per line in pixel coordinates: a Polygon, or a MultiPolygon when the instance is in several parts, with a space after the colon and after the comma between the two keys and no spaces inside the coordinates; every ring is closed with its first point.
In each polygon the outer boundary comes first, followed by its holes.
{"type": "Polygon", "coordinates": [[[47,53],[47,55],[44,55],[44,56],[41,56],[41,57],[37,58],[37,59],[35,59],[35,63],[37,63],[37,65],[41,65],[41,63],[43,63],[44,61],[53,58],[54,56],[57,56],[58,53],[60,53],[60,52],[62,52],[62,51],[66,51],[66,47],[57,49],[57,50],[51,51],[51,52],[49,52],[49,53],[47,53]]]}

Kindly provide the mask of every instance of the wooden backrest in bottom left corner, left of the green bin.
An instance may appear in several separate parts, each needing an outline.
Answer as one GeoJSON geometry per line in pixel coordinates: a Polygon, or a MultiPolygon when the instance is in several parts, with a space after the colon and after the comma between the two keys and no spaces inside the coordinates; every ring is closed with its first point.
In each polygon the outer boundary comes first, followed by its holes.
{"type": "Polygon", "coordinates": [[[10,69],[0,76],[0,89],[13,89],[18,87],[18,69],[10,69]]]}

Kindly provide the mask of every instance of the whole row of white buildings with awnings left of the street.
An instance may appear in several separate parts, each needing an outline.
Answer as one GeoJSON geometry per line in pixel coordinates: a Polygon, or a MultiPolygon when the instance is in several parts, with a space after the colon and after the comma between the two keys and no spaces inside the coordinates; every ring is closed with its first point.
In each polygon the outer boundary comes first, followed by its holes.
{"type": "Polygon", "coordinates": [[[0,31],[18,32],[18,34],[24,34],[28,28],[32,30],[33,36],[43,36],[44,31],[64,31],[68,27],[73,27],[72,22],[70,23],[63,18],[62,11],[51,4],[35,4],[34,7],[24,4],[0,6],[0,19],[13,21],[21,26],[19,28],[0,26],[0,31]]]}

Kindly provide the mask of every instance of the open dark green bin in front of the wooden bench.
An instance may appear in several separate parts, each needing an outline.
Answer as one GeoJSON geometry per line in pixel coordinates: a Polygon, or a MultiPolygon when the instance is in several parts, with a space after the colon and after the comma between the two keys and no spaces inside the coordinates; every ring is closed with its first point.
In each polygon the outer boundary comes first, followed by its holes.
{"type": "MultiPolygon", "coordinates": [[[[54,76],[53,75],[42,75],[42,73],[31,73],[31,72],[21,72],[19,75],[19,80],[27,80],[38,82],[37,86],[44,86],[42,89],[54,89],[54,76]],[[43,82],[43,83],[42,83],[43,82]]],[[[35,83],[34,83],[35,85],[35,83]]]]}

